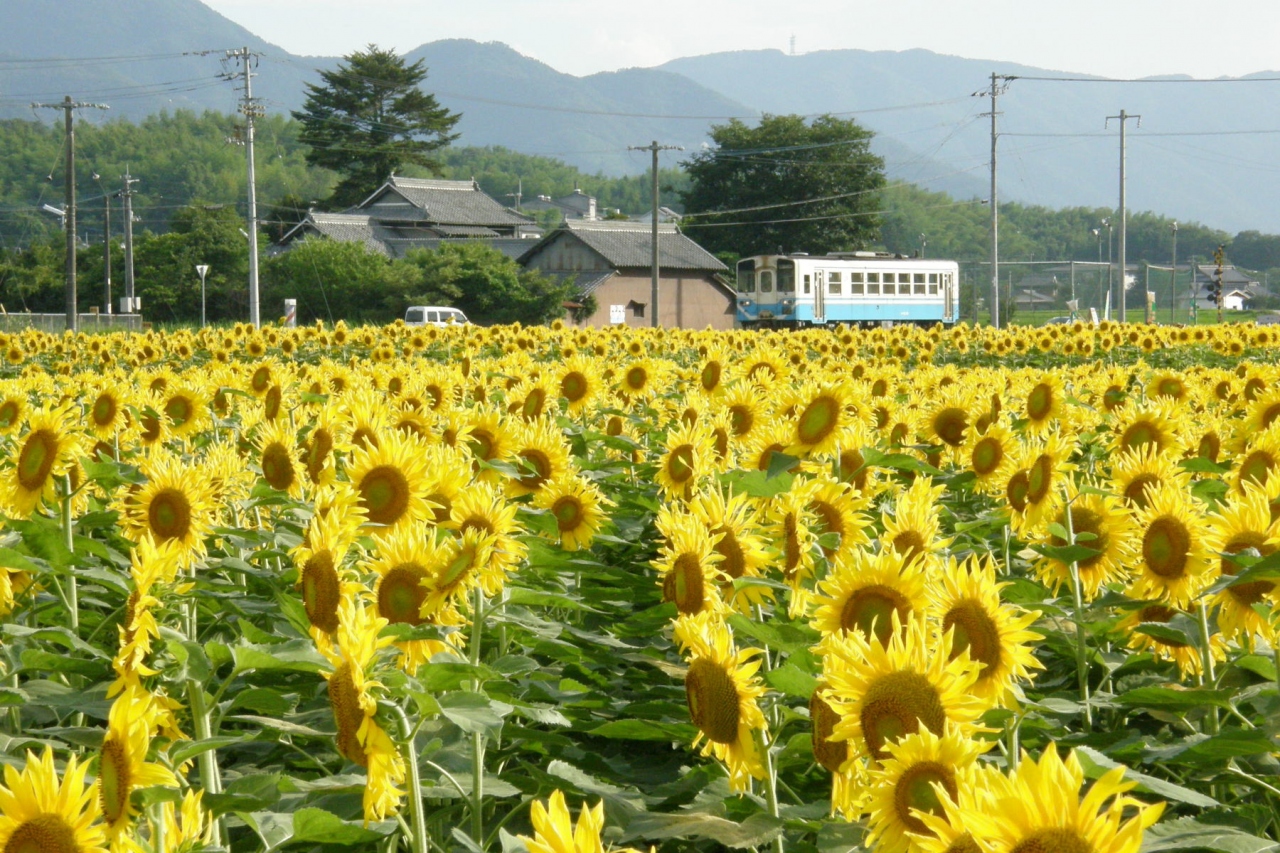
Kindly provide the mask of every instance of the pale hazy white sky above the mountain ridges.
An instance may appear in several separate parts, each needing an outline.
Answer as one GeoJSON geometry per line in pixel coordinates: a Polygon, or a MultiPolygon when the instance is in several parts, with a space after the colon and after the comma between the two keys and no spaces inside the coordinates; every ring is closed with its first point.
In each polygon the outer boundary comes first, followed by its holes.
{"type": "Polygon", "coordinates": [[[292,53],[502,41],[590,74],[726,50],[925,47],[1112,77],[1280,70],[1277,0],[204,0],[292,53]]]}

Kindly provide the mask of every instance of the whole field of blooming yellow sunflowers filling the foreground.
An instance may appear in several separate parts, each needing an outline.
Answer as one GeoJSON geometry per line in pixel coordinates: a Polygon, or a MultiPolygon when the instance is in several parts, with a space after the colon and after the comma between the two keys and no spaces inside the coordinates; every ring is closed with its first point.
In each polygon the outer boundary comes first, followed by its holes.
{"type": "Polygon", "coordinates": [[[0,352],[0,853],[1277,849],[1277,330],[0,352]]]}

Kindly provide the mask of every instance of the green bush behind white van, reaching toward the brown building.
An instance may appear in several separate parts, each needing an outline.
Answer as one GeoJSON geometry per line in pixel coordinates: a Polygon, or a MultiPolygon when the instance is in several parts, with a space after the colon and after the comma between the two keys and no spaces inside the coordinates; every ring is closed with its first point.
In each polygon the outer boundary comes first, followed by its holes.
{"type": "Polygon", "coordinates": [[[444,304],[462,309],[472,323],[548,323],[564,315],[563,304],[573,295],[571,282],[522,270],[481,242],[413,250],[406,260],[421,269],[429,291],[456,292],[457,297],[444,304]]]}

